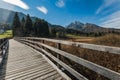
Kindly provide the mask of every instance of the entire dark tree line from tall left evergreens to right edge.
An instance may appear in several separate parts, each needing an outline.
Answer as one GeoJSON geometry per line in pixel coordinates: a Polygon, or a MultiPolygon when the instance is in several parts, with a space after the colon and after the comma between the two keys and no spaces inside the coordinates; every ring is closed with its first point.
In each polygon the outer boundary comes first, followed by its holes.
{"type": "Polygon", "coordinates": [[[15,13],[13,23],[13,36],[21,37],[54,37],[54,38],[67,38],[66,34],[73,34],[79,36],[103,36],[108,33],[120,34],[120,32],[110,31],[110,32],[82,32],[78,30],[64,28],[60,25],[51,25],[43,19],[36,18],[32,21],[29,14],[26,18],[20,20],[18,13],[15,13]]]}

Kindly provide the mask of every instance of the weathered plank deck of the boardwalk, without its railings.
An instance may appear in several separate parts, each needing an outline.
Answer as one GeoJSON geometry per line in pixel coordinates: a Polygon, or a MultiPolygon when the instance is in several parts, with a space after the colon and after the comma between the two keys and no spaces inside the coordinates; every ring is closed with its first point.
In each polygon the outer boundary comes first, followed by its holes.
{"type": "MultiPolygon", "coordinates": [[[[9,41],[5,80],[65,80],[60,73],[32,48],[15,40],[9,41]]],[[[1,77],[0,80],[3,80],[1,77]]]]}

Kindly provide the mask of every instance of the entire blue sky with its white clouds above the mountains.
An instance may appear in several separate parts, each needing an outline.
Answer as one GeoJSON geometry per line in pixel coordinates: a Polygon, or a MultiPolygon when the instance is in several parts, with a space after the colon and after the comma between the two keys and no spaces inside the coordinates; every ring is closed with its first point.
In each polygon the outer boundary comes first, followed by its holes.
{"type": "Polygon", "coordinates": [[[66,26],[71,22],[120,28],[120,0],[0,0],[0,7],[66,26]]]}

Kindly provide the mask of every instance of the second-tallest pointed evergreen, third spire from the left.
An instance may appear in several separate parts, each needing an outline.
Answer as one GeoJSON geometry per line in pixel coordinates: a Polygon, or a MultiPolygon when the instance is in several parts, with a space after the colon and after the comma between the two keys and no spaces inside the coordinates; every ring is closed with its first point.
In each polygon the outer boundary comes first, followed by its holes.
{"type": "Polygon", "coordinates": [[[30,36],[31,33],[32,33],[32,20],[28,14],[25,21],[25,36],[30,36]]]}

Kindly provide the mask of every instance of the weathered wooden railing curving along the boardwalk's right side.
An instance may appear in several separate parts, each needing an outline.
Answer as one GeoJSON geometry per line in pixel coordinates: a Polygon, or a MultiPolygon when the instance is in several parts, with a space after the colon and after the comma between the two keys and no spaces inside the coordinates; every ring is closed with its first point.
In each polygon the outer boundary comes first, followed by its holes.
{"type": "MultiPolygon", "coordinates": [[[[76,46],[80,48],[86,48],[86,49],[91,49],[91,50],[97,50],[97,51],[102,51],[102,52],[109,52],[111,54],[118,54],[120,55],[120,48],[119,47],[110,47],[110,46],[101,46],[101,45],[95,45],[95,44],[87,44],[87,43],[78,43],[78,42],[69,42],[69,41],[63,41],[63,40],[54,40],[54,39],[47,39],[47,38],[35,38],[35,37],[21,37],[21,38],[16,38],[16,40],[19,40],[37,50],[42,51],[45,55],[49,56],[57,62],[59,65],[61,65],[64,69],[69,71],[72,75],[74,75],[77,79],[79,80],[88,80],[86,77],[75,71],[73,68],[65,64],[59,59],[59,55],[64,56],[80,65],[85,66],[86,68],[103,75],[104,77],[107,77],[108,79],[111,80],[120,80],[120,73],[115,72],[113,70],[110,70],[108,68],[105,68],[103,66],[100,66],[98,64],[95,64],[93,62],[90,62],[88,60],[82,59],[80,57],[77,57],[75,55],[72,55],[68,52],[60,50],[61,44],[65,45],[71,45],[71,46],[76,46]],[[41,41],[41,42],[39,42],[41,41]],[[44,41],[49,41],[49,42],[54,42],[57,45],[57,48],[48,46],[44,44],[44,41]],[[42,46],[42,47],[40,47],[42,46]],[[45,48],[54,51],[57,53],[57,57],[53,56],[50,52],[46,51],[45,48]]],[[[107,54],[107,53],[106,53],[107,54]]]]}

